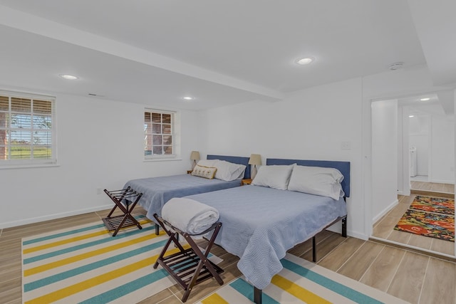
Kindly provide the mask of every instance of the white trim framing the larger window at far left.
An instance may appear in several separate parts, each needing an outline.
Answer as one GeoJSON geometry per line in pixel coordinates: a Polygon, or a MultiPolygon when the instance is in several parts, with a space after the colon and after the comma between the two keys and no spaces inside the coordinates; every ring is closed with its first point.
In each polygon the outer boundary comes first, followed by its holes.
{"type": "MultiPolygon", "coordinates": [[[[26,98],[31,100],[46,100],[51,102],[51,158],[50,159],[0,159],[0,169],[21,169],[33,167],[58,167],[57,163],[57,123],[56,97],[37,93],[25,93],[14,90],[0,90],[0,95],[11,98],[26,98]]],[[[11,114],[11,106],[9,111],[11,114]]],[[[34,112],[31,112],[33,115],[34,112]]],[[[11,125],[6,130],[10,130],[11,125]]]]}

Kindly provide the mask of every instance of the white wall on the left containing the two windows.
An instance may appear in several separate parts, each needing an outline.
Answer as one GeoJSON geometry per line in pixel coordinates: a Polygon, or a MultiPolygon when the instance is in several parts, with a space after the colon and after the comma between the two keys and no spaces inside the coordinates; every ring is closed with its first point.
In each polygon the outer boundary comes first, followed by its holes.
{"type": "MultiPolygon", "coordinates": [[[[143,161],[146,105],[56,95],[58,167],[0,169],[0,228],[113,206],[97,189],[128,179],[184,174],[198,150],[197,112],[180,111],[182,159],[143,161]]],[[[147,105],[147,107],[151,107],[147,105]]],[[[171,109],[172,110],[172,109],[171,109]]]]}

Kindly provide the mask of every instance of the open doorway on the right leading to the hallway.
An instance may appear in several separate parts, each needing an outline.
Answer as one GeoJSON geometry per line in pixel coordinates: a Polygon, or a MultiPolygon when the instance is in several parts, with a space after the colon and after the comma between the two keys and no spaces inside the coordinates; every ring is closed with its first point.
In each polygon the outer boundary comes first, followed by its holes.
{"type": "Polygon", "coordinates": [[[437,93],[371,102],[373,238],[455,256],[453,242],[394,229],[416,195],[454,200],[454,123],[437,93]]]}

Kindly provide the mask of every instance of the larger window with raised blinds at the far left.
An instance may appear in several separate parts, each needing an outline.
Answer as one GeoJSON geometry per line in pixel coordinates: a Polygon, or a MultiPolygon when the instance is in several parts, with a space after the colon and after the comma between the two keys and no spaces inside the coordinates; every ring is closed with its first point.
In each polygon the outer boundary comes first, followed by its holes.
{"type": "Polygon", "coordinates": [[[54,102],[0,91],[0,166],[56,163],[54,102]]]}

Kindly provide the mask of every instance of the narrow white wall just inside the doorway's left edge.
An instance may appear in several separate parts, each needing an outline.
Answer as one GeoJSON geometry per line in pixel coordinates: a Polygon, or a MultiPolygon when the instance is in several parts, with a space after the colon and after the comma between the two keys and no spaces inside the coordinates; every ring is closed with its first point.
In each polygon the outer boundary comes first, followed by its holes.
{"type": "Polygon", "coordinates": [[[398,100],[372,103],[372,183],[375,222],[398,203],[398,100]]]}

